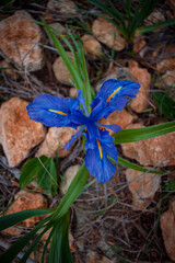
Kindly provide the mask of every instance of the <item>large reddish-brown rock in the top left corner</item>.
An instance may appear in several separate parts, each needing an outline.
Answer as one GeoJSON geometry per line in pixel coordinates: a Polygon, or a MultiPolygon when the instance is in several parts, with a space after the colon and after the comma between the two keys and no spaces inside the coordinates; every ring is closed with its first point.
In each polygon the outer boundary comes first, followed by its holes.
{"type": "Polygon", "coordinates": [[[0,23],[0,49],[28,71],[42,69],[44,55],[39,43],[43,33],[25,11],[16,11],[0,23]]]}

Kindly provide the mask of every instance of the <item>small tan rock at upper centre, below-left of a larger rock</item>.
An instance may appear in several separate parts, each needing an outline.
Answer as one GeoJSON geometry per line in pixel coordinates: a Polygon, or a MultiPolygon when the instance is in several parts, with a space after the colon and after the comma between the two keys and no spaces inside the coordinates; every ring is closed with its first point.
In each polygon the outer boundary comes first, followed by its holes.
{"type": "Polygon", "coordinates": [[[84,52],[92,58],[102,57],[101,44],[92,35],[83,35],[81,37],[83,42],[84,52]]]}

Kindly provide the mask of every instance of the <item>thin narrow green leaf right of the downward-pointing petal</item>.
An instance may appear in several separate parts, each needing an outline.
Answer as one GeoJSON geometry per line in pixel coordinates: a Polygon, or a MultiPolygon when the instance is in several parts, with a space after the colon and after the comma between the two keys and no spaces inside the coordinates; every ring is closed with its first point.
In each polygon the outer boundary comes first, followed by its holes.
{"type": "Polygon", "coordinates": [[[150,170],[150,169],[142,168],[142,167],[137,165],[135,163],[131,163],[131,162],[129,162],[129,161],[127,161],[127,160],[125,160],[120,157],[117,157],[117,163],[121,164],[124,167],[131,168],[133,170],[140,171],[140,172],[147,172],[148,171],[148,173],[164,174],[164,172],[162,172],[162,171],[155,171],[155,170],[152,170],[152,169],[150,170]]]}

